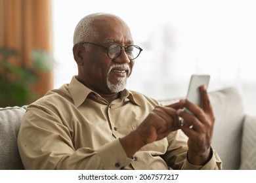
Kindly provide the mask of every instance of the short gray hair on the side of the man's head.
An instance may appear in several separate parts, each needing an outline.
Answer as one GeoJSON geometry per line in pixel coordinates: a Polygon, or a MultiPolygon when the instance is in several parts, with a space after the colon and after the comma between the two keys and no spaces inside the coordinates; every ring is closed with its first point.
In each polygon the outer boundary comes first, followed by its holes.
{"type": "Polygon", "coordinates": [[[75,27],[73,44],[81,43],[83,41],[90,41],[97,36],[97,33],[93,27],[93,22],[98,13],[89,14],[83,17],[75,27]]]}

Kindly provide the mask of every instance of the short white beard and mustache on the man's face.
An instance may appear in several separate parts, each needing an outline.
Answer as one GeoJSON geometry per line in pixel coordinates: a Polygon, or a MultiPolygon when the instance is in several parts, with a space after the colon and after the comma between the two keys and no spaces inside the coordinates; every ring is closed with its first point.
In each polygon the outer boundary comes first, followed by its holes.
{"type": "Polygon", "coordinates": [[[121,92],[122,90],[125,89],[126,87],[126,84],[127,84],[127,78],[129,76],[129,73],[131,72],[131,69],[129,67],[129,65],[125,64],[125,63],[121,63],[121,64],[114,64],[110,67],[110,70],[108,71],[108,75],[107,75],[107,86],[108,86],[108,89],[110,89],[110,91],[112,93],[118,93],[118,92],[121,92]],[[111,81],[110,81],[110,77],[109,77],[109,74],[110,74],[110,71],[114,68],[114,67],[125,67],[128,69],[128,73],[127,73],[127,77],[118,77],[117,78],[117,84],[113,84],[111,81]]]}

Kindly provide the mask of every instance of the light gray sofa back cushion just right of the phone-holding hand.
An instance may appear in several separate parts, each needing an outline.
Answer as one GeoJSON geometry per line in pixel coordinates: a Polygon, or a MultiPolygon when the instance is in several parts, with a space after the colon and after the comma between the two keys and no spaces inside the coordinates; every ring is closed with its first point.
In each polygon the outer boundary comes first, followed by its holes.
{"type": "Polygon", "coordinates": [[[212,146],[223,161],[223,169],[239,169],[244,107],[236,88],[209,93],[215,125],[212,146]]]}

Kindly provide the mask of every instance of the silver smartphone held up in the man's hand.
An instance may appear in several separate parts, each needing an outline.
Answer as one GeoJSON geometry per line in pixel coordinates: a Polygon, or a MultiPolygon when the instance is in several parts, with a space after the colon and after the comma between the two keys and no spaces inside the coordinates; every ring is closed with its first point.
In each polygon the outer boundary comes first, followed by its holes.
{"type": "MultiPolygon", "coordinates": [[[[208,87],[210,80],[209,75],[192,75],[190,78],[190,83],[188,87],[188,93],[186,95],[186,99],[190,101],[191,103],[194,103],[198,105],[199,107],[202,107],[201,105],[201,95],[200,95],[200,86],[205,85],[206,88],[208,87]]],[[[186,112],[191,112],[184,108],[186,112]]],[[[181,125],[186,125],[185,120],[181,120],[181,125]]]]}

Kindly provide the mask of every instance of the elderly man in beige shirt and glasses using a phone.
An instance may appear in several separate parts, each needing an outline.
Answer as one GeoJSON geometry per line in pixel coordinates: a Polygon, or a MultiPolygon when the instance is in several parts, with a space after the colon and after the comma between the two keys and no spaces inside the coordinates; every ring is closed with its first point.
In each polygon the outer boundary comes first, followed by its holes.
{"type": "Polygon", "coordinates": [[[141,51],[118,16],[80,20],[73,47],[78,75],[24,115],[18,148],[26,169],[221,169],[205,87],[202,108],[185,100],[162,106],[125,89],[141,51]]]}

